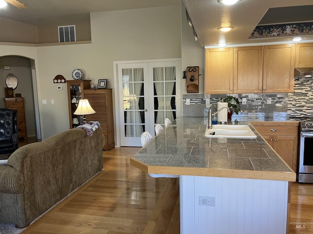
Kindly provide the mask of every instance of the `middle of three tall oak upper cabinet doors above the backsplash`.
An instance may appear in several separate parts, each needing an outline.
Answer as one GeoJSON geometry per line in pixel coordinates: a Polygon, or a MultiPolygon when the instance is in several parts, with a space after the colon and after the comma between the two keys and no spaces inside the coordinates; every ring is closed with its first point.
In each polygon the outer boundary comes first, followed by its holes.
{"type": "Polygon", "coordinates": [[[234,93],[262,93],[263,46],[234,48],[234,93]]]}

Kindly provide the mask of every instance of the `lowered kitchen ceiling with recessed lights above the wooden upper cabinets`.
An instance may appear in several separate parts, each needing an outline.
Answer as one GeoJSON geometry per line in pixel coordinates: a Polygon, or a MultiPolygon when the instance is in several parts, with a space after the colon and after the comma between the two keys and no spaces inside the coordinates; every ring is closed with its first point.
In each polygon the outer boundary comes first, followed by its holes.
{"type": "MultiPolygon", "coordinates": [[[[313,21],[313,0],[241,0],[234,5],[225,6],[217,0],[183,0],[202,46],[216,47],[220,41],[228,45],[291,41],[292,37],[248,39],[254,28],[265,16],[269,8],[304,6],[300,8],[280,8],[269,13],[262,23],[275,24],[287,22],[313,21]],[[307,11],[311,7],[311,11],[307,11]],[[303,13],[303,14],[301,14],[303,13]],[[223,33],[217,28],[233,26],[223,33]]],[[[312,40],[313,35],[305,39],[312,40]]]]}

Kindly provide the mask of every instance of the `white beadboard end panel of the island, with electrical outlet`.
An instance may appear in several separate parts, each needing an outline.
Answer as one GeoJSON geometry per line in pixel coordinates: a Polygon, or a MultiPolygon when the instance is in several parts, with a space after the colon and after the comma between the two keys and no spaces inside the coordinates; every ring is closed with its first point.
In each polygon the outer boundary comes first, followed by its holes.
{"type": "Polygon", "coordinates": [[[286,234],[287,201],[288,181],[180,176],[180,233],[286,234]]]}

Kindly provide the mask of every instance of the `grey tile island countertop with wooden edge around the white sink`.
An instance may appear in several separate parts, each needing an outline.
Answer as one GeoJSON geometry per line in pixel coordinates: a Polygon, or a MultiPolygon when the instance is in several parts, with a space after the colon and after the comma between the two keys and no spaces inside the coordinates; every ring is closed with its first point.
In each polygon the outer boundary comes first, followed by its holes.
{"type": "Polygon", "coordinates": [[[296,174],[249,122],[236,123],[249,125],[256,139],[204,137],[203,120],[178,117],[134,155],[131,164],[152,174],[295,181],[296,174]]]}

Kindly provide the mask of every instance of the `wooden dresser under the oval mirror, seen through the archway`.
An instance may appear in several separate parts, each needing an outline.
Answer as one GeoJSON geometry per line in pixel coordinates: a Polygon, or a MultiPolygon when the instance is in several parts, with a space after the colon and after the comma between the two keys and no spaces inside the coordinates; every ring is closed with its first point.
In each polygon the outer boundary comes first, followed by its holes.
{"type": "Polygon", "coordinates": [[[20,137],[27,139],[24,99],[23,98],[4,98],[5,108],[18,111],[18,128],[20,137]]]}

